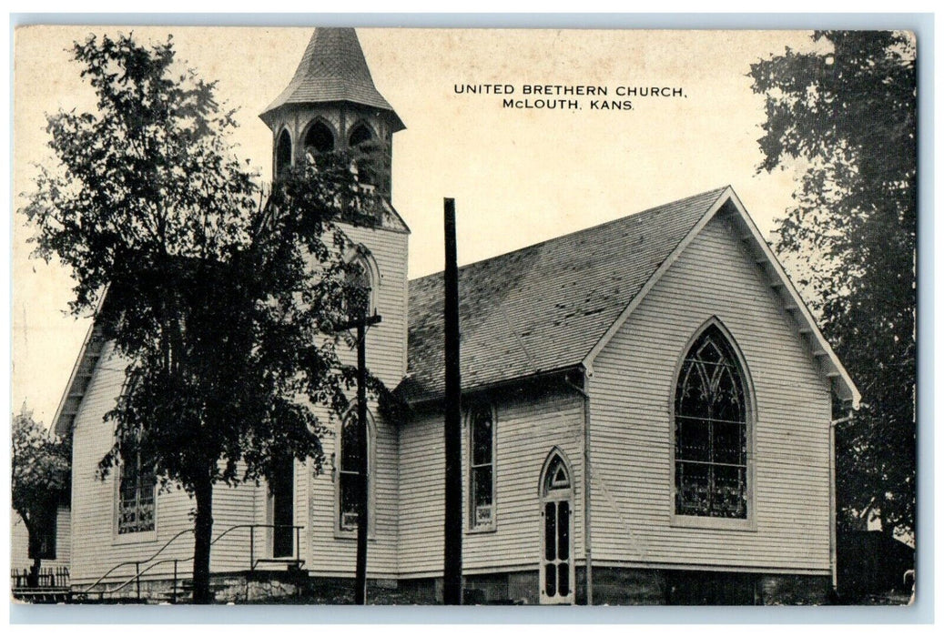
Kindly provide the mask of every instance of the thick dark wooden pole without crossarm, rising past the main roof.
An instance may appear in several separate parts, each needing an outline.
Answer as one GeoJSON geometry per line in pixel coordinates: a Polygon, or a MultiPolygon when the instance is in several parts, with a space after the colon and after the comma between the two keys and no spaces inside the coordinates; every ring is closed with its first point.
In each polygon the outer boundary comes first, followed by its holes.
{"type": "Polygon", "coordinates": [[[443,603],[463,603],[462,390],[459,369],[459,267],[456,203],[445,200],[446,272],[446,503],[443,543],[443,603]]]}

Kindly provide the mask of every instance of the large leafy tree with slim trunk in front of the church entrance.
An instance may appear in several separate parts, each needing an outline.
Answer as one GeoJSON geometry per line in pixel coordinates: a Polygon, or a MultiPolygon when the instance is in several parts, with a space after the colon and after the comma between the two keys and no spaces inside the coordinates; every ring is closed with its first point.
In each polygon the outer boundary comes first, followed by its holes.
{"type": "Polygon", "coordinates": [[[320,468],[314,408],[346,410],[355,373],[333,326],[365,292],[336,223],[376,223],[379,204],[336,154],[280,176],[261,205],[228,143],[232,111],[177,70],[170,39],[91,36],[73,53],[97,109],[48,117],[60,164],[24,212],[35,254],[71,269],[74,312],[107,290],[96,321],[127,367],[100,473],[140,458],[193,496],[194,601],[208,602],[213,485],[286,456],[320,468]]]}

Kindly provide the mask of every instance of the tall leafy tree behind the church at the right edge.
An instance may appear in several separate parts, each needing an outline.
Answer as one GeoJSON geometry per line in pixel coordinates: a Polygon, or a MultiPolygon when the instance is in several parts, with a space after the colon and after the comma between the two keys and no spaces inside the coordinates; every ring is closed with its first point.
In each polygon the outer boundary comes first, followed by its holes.
{"type": "Polygon", "coordinates": [[[776,246],[862,394],[836,431],[845,522],[915,528],[916,43],[817,31],[813,51],[752,64],[767,100],[760,170],[806,170],[776,246]],[[812,256],[812,258],[811,258],[812,256]]]}

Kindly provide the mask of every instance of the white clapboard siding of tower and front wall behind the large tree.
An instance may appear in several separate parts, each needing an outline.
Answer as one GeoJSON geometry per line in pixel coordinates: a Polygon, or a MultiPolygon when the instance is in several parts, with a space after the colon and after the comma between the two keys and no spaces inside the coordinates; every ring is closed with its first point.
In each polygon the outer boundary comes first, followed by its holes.
{"type": "MultiPolygon", "coordinates": [[[[345,227],[355,243],[368,247],[380,273],[376,289],[379,326],[371,327],[367,338],[367,365],[388,386],[394,387],[406,371],[406,294],[407,239],[403,232],[360,227],[345,227]]],[[[343,360],[354,364],[353,350],[341,348],[343,360]]],[[[193,528],[191,511],[194,501],[182,491],[158,495],[157,529],[154,533],[131,538],[115,532],[116,485],[114,475],[104,481],[95,477],[98,461],[108,452],[113,440],[111,425],[103,422],[121,392],[124,364],[112,356],[106,346],[95,375],[76,416],[74,443],[73,580],[90,582],[112,565],[129,560],[144,560],[177,532],[193,528]]],[[[371,569],[378,577],[396,574],[396,429],[378,423],[378,467],[375,474],[379,514],[376,535],[371,543],[371,569]]],[[[324,422],[328,422],[325,419],[324,422]]],[[[326,463],[333,450],[330,437],[325,441],[326,463]]],[[[305,527],[301,533],[300,555],[306,566],[325,573],[353,573],[354,543],[334,537],[334,484],[328,471],[314,476],[308,463],[295,463],[295,524],[305,527]]],[[[271,523],[270,502],[264,485],[244,484],[236,488],[218,485],[213,492],[213,537],[227,528],[244,524],[271,523]]],[[[243,570],[249,565],[249,530],[235,529],[213,545],[211,570],[243,570]]],[[[271,532],[255,531],[255,557],[271,553],[271,532]]],[[[179,572],[189,573],[193,558],[193,540],[184,535],[161,553],[161,558],[179,558],[179,572]]],[[[122,578],[133,567],[116,573],[122,578]]],[[[162,565],[152,573],[166,575],[173,565],[162,565]]]]}

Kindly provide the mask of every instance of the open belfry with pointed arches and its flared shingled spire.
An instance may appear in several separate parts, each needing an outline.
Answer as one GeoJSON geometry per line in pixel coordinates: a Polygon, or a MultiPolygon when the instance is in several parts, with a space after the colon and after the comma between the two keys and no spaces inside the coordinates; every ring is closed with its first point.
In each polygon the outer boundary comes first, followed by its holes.
{"type": "Polygon", "coordinates": [[[272,129],[274,176],[309,154],[370,148],[379,160],[366,178],[390,201],[393,135],[406,126],[374,86],[353,28],[316,28],[292,81],[260,117],[272,129]]]}

